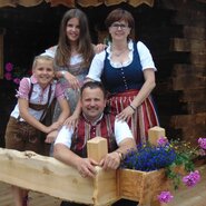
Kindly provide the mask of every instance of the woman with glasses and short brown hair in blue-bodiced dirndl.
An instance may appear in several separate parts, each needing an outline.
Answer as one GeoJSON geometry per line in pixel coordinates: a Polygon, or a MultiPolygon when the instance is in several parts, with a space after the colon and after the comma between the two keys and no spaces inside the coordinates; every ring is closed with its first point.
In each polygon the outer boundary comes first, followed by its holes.
{"type": "Polygon", "coordinates": [[[150,96],[155,88],[155,65],[147,47],[131,40],[135,21],[126,10],[116,9],[106,18],[108,48],[96,55],[87,76],[102,81],[117,118],[127,120],[136,143],[147,140],[150,127],[159,125],[150,96]]]}

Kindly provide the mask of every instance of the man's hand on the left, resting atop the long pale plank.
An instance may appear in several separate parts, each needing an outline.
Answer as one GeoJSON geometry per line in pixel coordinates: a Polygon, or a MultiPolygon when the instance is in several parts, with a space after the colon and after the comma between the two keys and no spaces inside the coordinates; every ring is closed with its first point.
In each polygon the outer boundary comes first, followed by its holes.
{"type": "Polygon", "coordinates": [[[80,160],[77,164],[77,169],[79,174],[81,175],[81,177],[92,177],[94,178],[96,175],[96,169],[95,169],[96,165],[98,165],[98,163],[96,163],[92,159],[80,158],[80,160]]]}

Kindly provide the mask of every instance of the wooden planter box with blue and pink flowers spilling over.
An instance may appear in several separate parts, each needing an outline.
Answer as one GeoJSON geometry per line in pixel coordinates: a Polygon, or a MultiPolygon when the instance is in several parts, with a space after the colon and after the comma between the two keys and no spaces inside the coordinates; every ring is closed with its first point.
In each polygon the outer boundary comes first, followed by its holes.
{"type": "Polygon", "coordinates": [[[146,143],[138,145],[137,150],[128,151],[119,169],[120,196],[138,200],[139,205],[157,206],[173,199],[173,186],[178,189],[184,183],[194,187],[200,180],[200,174],[195,170],[193,159],[205,155],[206,138],[199,138],[198,144],[193,148],[185,141],[168,141],[160,137],[156,145],[146,143]]]}

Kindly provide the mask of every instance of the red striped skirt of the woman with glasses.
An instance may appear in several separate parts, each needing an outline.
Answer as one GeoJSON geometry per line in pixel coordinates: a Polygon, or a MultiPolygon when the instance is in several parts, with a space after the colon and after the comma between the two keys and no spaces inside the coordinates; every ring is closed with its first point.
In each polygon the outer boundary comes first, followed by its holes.
{"type": "MultiPolygon", "coordinates": [[[[133,89],[111,95],[108,99],[110,111],[114,114],[121,112],[121,110],[131,104],[137,94],[138,90],[133,89]]],[[[136,144],[147,141],[148,129],[159,126],[151,96],[147,97],[145,101],[136,109],[133,117],[129,119],[128,125],[131,129],[136,144]]]]}

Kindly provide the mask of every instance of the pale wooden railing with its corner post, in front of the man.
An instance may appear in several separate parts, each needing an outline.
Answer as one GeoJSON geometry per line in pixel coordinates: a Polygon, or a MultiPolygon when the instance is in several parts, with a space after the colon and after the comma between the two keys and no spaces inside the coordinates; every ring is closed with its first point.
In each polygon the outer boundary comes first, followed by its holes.
{"type": "MultiPolygon", "coordinates": [[[[98,137],[88,141],[89,149],[94,149],[89,155],[98,157],[97,160],[107,154],[105,140],[98,137]]],[[[75,168],[52,157],[3,148],[0,148],[0,165],[1,182],[29,190],[96,206],[119,199],[116,170],[105,171],[96,167],[97,175],[94,179],[82,178],[75,168]]]]}

